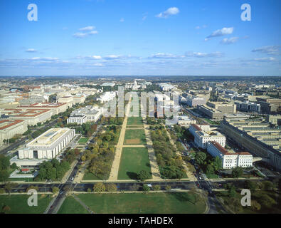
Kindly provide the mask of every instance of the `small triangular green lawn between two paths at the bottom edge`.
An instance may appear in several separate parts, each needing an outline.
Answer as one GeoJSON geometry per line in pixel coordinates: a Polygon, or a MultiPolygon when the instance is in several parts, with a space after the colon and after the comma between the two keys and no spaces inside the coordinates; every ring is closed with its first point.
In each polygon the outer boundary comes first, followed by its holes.
{"type": "Polygon", "coordinates": [[[66,197],[58,214],[88,214],[88,211],[72,196],[66,197]]]}

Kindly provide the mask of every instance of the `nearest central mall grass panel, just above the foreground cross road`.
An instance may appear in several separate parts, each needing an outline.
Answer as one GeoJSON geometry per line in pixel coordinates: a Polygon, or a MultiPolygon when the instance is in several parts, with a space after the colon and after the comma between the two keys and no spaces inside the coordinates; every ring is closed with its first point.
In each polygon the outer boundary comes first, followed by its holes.
{"type": "Polygon", "coordinates": [[[124,147],[122,150],[118,180],[135,180],[137,172],[151,172],[149,155],[145,147],[124,147]]]}

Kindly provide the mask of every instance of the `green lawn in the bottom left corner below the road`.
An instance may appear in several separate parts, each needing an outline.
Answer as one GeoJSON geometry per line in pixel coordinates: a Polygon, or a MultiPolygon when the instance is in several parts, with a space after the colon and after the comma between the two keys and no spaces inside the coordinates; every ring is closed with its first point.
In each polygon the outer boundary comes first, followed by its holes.
{"type": "Polygon", "coordinates": [[[9,214],[43,214],[52,199],[51,195],[38,195],[38,206],[29,207],[28,197],[31,195],[0,195],[0,210],[7,205],[11,208],[9,214]]]}

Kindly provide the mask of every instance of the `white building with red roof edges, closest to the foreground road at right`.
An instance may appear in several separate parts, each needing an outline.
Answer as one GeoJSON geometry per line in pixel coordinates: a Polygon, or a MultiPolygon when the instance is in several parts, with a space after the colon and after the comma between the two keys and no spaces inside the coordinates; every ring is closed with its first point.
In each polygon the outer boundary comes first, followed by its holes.
{"type": "Polygon", "coordinates": [[[249,152],[228,152],[218,142],[208,142],[207,151],[213,157],[219,157],[223,169],[253,166],[253,155],[249,152]]]}

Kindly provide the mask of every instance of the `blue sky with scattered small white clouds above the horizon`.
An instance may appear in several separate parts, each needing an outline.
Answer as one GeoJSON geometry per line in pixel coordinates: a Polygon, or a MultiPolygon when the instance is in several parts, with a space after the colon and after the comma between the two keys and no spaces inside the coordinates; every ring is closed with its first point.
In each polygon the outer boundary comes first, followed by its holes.
{"type": "Polygon", "coordinates": [[[279,0],[1,0],[1,76],[280,76],[279,0]],[[251,21],[242,21],[242,4],[251,21]],[[38,21],[28,21],[28,4],[38,21]]]}

